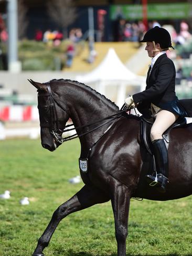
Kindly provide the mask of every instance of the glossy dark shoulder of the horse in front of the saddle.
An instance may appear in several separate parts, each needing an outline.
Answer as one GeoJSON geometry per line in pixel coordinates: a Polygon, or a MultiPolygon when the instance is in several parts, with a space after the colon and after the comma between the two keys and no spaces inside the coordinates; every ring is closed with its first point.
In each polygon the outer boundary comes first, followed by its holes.
{"type": "Polygon", "coordinates": [[[90,177],[112,176],[126,186],[135,187],[141,167],[138,131],[139,122],[135,119],[116,122],[91,152],[90,177]]]}

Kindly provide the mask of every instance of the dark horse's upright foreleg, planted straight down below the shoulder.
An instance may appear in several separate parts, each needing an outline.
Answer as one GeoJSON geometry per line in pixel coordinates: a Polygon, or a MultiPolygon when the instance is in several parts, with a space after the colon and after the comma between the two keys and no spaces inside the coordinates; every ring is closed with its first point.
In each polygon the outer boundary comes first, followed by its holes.
{"type": "Polygon", "coordinates": [[[111,198],[113,214],[115,220],[115,237],[118,243],[118,256],[126,255],[126,237],[127,224],[130,207],[130,191],[129,189],[115,182],[115,189],[111,198]]]}

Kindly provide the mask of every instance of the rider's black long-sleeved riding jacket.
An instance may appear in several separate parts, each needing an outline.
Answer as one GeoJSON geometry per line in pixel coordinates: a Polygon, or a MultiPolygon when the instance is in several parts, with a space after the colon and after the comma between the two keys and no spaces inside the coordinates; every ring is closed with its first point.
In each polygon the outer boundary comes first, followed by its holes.
{"type": "Polygon", "coordinates": [[[153,103],[161,109],[184,116],[186,112],[175,93],[176,71],[173,61],[163,54],[155,61],[151,74],[150,70],[151,68],[147,73],[145,90],[133,94],[134,103],[138,103],[138,111],[147,114],[153,103]]]}

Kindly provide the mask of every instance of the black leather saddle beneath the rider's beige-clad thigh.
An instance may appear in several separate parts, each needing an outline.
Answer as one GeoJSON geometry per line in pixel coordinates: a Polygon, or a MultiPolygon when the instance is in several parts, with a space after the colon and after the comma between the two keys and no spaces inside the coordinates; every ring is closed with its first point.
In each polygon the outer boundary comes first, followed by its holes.
{"type": "MultiPolygon", "coordinates": [[[[146,119],[143,116],[141,116],[141,120],[140,120],[140,141],[141,143],[145,146],[146,150],[148,151],[148,153],[152,154],[152,142],[151,142],[151,138],[150,138],[150,131],[151,131],[151,127],[154,123],[153,119],[146,119]]],[[[169,141],[170,141],[170,136],[169,133],[172,129],[175,128],[180,128],[180,127],[184,127],[187,124],[186,118],[182,117],[182,118],[178,118],[176,120],[176,122],[170,126],[163,134],[163,139],[165,142],[165,145],[167,147],[168,150],[168,146],[169,146],[169,141]]]]}

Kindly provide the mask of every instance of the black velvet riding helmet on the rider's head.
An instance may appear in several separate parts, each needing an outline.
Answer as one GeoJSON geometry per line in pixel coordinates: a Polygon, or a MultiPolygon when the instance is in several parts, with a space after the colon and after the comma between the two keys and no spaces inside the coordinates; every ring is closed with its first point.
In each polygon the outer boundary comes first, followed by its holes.
{"type": "Polygon", "coordinates": [[[145,33],[143,40],[141,40],[140,42],[153,42],[153,41],[155,42],[155,44],[159,43],[162,49],[168,49],[169,47],[173,48],[170,35],[165,28],[160,28],[158,26],[155,26],[154,28],[148,30],[145,33]]]}

